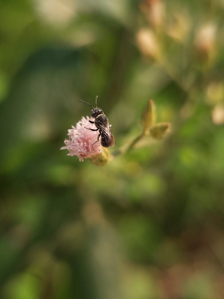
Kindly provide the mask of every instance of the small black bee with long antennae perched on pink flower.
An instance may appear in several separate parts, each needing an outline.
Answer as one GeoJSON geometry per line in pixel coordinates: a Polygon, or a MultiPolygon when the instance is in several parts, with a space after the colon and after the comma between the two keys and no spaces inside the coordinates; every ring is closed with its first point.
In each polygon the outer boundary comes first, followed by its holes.
{"type": "MultiPolygon", "coordinates": [[[[95,123],[95,126],[97,127],[97,129],[90,129],[90,128],[86,128],[89,129],[91,131],[98,131],[99,130],[99,135],[97,137],[97,141],[99,141],[99,137],[101,135],[101,144],[103,147],[113,147],[114,146],[114,137],[111,133],[111,128],[108,122],[108,118],[106,117],[106,115],[104,114],[103,110],[100,109],[99,107],[97,107],[97,98],[98,95],[96,96],[96,108],[94,108],[92,105],[90,105],[87,102],[84,102],[82,100],[80,100],[83,103],[86,103],[87,105],[89,105],[90,107],[92,107],[93,109],[90,112],[90,115],[95,118],[94,121],[89,120],[90,123],[95,123]]],[[[95,144],[96,142],[94,142],[93,144],[95,144]]]]}

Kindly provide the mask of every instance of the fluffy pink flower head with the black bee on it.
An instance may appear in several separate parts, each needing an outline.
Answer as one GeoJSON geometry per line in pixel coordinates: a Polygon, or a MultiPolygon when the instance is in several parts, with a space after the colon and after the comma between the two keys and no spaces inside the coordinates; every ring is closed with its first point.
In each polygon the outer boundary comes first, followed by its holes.
{"type": "Polygon", "coordinates": [[[83,158],[90,158],[93,155],[99,155],[103,152],[103,147],[101,142],[97,141],[97,136],[99,131],[91,131],[86,129],[96,129],[96,126],[89,122],[89,120],[94,120],[88,116],[82,119],[76,124],[76,127],[72,126],[72,129],[68,130],[68,139],[65,139],[65,147],[61,149],[67,149],[69,153],[68,156],[76,155],[79,157],[79,161],[83,161],[83,158]],[[95,144],[93,144],[96,142],[95,144]]]}

